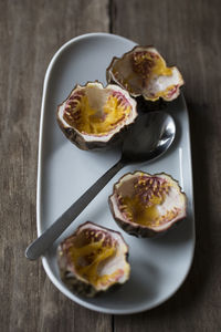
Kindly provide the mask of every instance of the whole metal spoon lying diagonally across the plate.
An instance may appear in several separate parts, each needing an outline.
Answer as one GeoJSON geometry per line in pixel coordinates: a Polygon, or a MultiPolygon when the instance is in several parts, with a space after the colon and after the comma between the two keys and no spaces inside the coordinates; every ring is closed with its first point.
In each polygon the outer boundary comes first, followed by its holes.
{"type": "Polygon", "coordinates": [[[107,170],[51,227],[27,248],[25,257],[34,260],[43,255],[119,169],[128,164],[147,162],[158,157],[171,145],[175,133],[175,122],[165,112],[151,112],[139,116],[128,129],[123,143],[119,162],[107,170]]]}

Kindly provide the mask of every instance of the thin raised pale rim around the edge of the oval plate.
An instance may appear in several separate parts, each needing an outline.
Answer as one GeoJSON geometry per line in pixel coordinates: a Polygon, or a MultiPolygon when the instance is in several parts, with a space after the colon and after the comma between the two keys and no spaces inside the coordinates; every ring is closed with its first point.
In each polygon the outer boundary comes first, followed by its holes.
{"type": "MultiPolygon", "coordinates": [[[[135,43],[133,40],[129,40],[125,37],[120,37],[117,34],[113,34],[113,33],[107,33],[107,32],[91,32],[91,33],[85,33],[85,34],[81,34],[77,35],[71,40],[69,40],[67,42],[65,42],[53,55],[53,58],[51,59],[46,72],[45,72],[45,76],[44,76],[44,83],[43,83],[43,92],[42,92],[42,103],[41,103],[41,115],[40,115],[40,129],[39,129],[39,153],[38,153],[38,177],[36,177],[36,230],[38,230],[38,236],[41,235],[41,179],[42,179],[42,145],[43,145],[43,123],[44,123],[44,115],[45,115],[45,100],[46,100],[46,89],[48,89],[48,83],[50,80],[50,74],[52,71],[52,68],[54,65],[54,63],[56,62],[56,60],[59,59],[59,56],[73,43],[76,43],[81,40],[84,39],[91,39],[94,37],[106,37],[106,38],[114,38],[114,39],[119,39],[119,40],[124,40],[126,42],[133,42],[135,43]]],[[[136,43],[135,43],[136,44],[136,43]]],[[[189,261],[189,267],[186,271],[186,273],[182,276],[182,280],[180,281],[179,286],[166,298],[164,298],[161,301],[158,301],[157,303],[152,303],[152,305],[146,305],[143,309],[140,308],[133,308],[133,309],[107,309],[107,308],[102,308],[101,305],[96,305],[93,303],[87,302],[86,300],[82,300],[81,298],[78,298],[77,295],[75,295],[74,293],[70,294],[70,290],[67,290],[64,286],[61,284],[61,282],[59,281],[59,279],[51,272],[51,268],[50,264],[48,262],[48,259],[43,256],[42,259],[42,264],[43,268],[48,274],[48,277],[50,278],[50,280],[52,281],[52,283],[54,283],[54,286],[64,294],[66,295],[69,299],[71,299],[73,302],[76,302],[77,304],[85,307],[87,309],[91,309],[93,311],[96,312],[102,312],[102,313],[107,313],[107,314],[134,314],[134,313],[139,313],[139,312],[144,312],[144,311],[148,311],[151,310],[156,307],[159,307],[161,303],[168,301],[170,298],[172,298],[172,295],[180,289],[180,287],[183,284],[187,276],[189,274],[190,268],[192,266],[192,261],[193,261],[193,256],[194,256],[194,247],[196,247],[196,224],[194,224],[194,201],[193,201],[193,177],[192,177],[192,158],[191,158],[191,139],[190,139],[190,123],[189,123],[189,114],[188,114],[188,108],[187,108],[187,103],[186,100],[182,97],[182,103],[186,106],[187,110],[187,117],[188,117],[188,131],[189,131],[189,145],[188,145],[188,152],[189,152],[189,158],[190,158],[190,181],[191,181],[191,215],[192,215],[192,232],[193,232],[193,238],[192,238],[192,252],[191,252],[191,258],[189,261]],[[74,298],[74,299],[73,299],[74,298]]]]}

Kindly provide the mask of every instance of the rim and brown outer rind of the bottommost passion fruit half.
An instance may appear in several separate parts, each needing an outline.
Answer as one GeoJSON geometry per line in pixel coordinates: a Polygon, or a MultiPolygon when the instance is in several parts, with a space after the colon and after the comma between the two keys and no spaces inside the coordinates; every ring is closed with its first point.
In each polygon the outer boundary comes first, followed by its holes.
{"type": "MultiPolygon", "coordinates": [[[[69,250],[70,243],[72,243],[76,239],[76,237],[82,231],[82,228],[85,226],[88,227],[88,229],[92,229],[93,226],[95,226],[95,227],[98,227],[103,231],[106,231],[112,235],[114,235],[114,234],[117,235],[126,248],[126,252],[124,255],[126,263],[128,263],[129,247],[125,242],[123,236],[118,231],[108,229],[106,227],[98,226],[92,221],[86,221],[83,225],[81,225],[73,235],[71,235],[70,237],[67,237],[60,243],[60,246],[57,247],[56,257],[57,257],[57,264],[59,264],[60,276],[61,276],[62,281],[66,284],[66,287],[73,293],[76,293],[76,294],[83,295],[83,297],[87,297],[87,298],[94,298],[94,297],[101,295],[103,293],[114,291],[117,288],[122,287],[124,283],[115,282],[115,283],[110,284],[109,287],[107,287],[105,290],[99,290],[99,289],[95,288],[93,284],[91,284],[90,282],[85,281],[80,276],[77,276],[77,273],[73,270],[73,263],[70,260],[67,250],[69,250]]],[[[129,276],[127,277],[127,279],[124,282],[126,282],[128,279],[129,279],[129,276]]]]}

